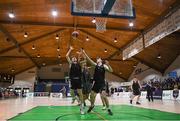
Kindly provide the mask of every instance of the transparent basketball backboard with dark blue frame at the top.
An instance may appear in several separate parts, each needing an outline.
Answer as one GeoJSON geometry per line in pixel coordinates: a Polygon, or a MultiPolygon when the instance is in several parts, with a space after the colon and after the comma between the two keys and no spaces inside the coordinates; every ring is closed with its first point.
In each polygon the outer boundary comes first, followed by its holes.
{"type": "Polygon", "coordinates": [[[72,0],[71,14],[125,19],[136,17],[132,0],[72,0]]]}

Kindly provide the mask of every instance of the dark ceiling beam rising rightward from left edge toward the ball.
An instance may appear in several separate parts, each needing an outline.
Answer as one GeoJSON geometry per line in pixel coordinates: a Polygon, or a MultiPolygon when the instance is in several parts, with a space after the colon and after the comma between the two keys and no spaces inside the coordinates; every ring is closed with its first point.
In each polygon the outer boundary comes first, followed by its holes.
{"type": "MultiPolygon", "coordinates": [[[[20,44],[19,44],[19,47],[20,47],[20,46],[23,46],[23,45],[26,45],[26,44],[29,44],[29,43],[31,43],[31,42],[33,42],[33,41],[38,40],[38,39],[42,39],[42,38],[44,38],[44,37],[47,37],[47,36],[49,36],[49,35],[55,34],[55,33],[57,33],[57,32],[64,31],[64,30],[65,30],[65,29],[62,29],[62,28],[61,28],[61,29],[57,29],[57,30],[55,30],[55,31],[48,32],[48,33],[42,34],[42,35],[40,35],[40,36],[31,38],[31,39],[28,39],[27,41],[24,41],[24,42],[20,43],[20,44]]],[[[17,48],[17,46],[14,45],[14,46],[12,46],[12,47],[9,47],[9,48],[6,48],[6,49],[0,51],[0,54],[3,54],[3,53],[5,53],[5,52],[7,52],[7,51],[11,51],[11,50],[16,49],[16,48],[17,48]]]]}

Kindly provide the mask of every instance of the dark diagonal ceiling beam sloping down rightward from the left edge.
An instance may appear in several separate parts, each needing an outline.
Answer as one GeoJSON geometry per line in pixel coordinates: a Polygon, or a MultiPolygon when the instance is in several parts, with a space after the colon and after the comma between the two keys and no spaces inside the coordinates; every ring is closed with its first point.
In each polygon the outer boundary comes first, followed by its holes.
{"type": "MultiPolygon", "coordinates": [[[[9,38],[10,40],[12,40],[14,43],[16,43],[17,45],[19,45],[18,41],[17,41],[17,40],[6,30],[6,28],[4,28],[4,26],[1,25],[1,24],[0,24],[0,30],[1,30],[1,32],[4,33],[4,35],[5,35],[6,37],[8,37],[8,38],[9,38]]],[[[39,65],[31,58],[31,56],[29,55],[29,53],[26,52],[26,51],[24,50],[24,48],[22,48],[22,47],[19,46],[18,49],[20,49],[20,50],[29,58],[29,60],[31,60],[31,61],[34,63],[34,65],[39,68],[39,65]]]]}

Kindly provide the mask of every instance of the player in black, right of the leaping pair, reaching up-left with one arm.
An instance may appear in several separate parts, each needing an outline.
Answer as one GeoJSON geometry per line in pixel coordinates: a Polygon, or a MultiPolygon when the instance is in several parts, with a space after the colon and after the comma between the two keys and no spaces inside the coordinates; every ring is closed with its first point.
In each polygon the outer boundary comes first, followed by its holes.
{"type": "Polygon", "coordinates": [[[84,50],[82,50],[83,54],[86,56],[87,60],[90,62],[92,66],[95,66],[95,71],[94,71],[94,79],[93,79],[93,87],[92,91],[90,93],[90,101],[91,101],[91,106],[88,109],[88,113],[91,112],[91,110],[94,108],[94,103],[95,103],[95,98],[97,93],[101,93],[101,96],[103,100],[105,101],[105,105],[108,111],[109,115],[112,115],[113,113],[111,112],[109,108],[109,101],[107,98],[106,90],[105,90],[105,72],[113,72],[111,66],[109,65],[108,61],[103,64],[103,61],[101,58],[97,58],[96,63],[91,60],[88,55],[85,53],[84,50]]]}

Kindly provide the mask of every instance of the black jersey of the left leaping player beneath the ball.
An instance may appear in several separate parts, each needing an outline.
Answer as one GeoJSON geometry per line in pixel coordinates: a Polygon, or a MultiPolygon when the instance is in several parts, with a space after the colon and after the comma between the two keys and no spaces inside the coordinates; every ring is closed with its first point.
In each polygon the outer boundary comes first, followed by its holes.
{"type": "Polygon", "coordinates": [[[79,63],[72,63],[69,73],[70,79],[81,78],[81,66],[79,63]]]}

